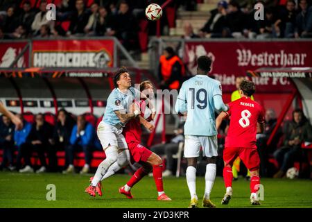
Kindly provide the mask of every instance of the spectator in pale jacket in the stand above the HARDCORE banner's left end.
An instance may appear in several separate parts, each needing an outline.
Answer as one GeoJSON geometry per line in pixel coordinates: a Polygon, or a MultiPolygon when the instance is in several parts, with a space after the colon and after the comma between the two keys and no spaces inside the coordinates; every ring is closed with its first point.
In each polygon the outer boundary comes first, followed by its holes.
{"type": "Polygon", "coordinates": [[[40,34],[40,28],[42,25],[49,25],[51,33],[53,35],[58,35],[58,33],[54,29],[54,21],[49,21],[46,19],[46,1],[40,2],[40,12],[38,12],[35,15],[35,19],[33,20],[33,24],[31,24],[31,28],[33,29],[33,35],[39,35],[40,34]]]}

